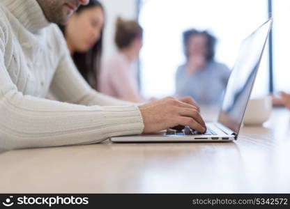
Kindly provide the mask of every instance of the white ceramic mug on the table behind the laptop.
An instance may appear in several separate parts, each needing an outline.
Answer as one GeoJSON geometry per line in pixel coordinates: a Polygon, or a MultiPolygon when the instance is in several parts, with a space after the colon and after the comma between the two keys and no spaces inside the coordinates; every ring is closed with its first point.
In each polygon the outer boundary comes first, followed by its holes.
{"type": "Polygon", "coordinates": [[[249,100],[244,116],[245,125],[263,125],[268,121],[272,111],[272,98],[266,96],[249,100]]]}

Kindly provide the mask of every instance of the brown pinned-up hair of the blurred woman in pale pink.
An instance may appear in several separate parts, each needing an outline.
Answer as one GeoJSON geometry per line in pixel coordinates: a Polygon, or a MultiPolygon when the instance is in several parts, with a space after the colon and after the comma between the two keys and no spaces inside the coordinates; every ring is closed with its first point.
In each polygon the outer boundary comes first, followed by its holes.
{"type": "Polygon", "coordinates": [[[118,17],[116,22],[115,43],[119,49],[124,49],[132,43],[135,38],[142,38],[143,29],[134,20],[123,20],[118,17]]]}

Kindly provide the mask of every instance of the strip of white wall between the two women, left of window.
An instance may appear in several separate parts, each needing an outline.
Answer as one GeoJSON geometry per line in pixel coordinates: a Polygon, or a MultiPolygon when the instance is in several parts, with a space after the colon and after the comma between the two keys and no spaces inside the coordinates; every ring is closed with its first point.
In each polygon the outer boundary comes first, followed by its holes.
{"type": "Polygon", "coordinates": [[[137,18],[137,0],[100,0],[105,8],[106,23],[102,59],[105,61],[116,50],[114,44],[115,24],[117,17],[124,19],[137,18]]]}

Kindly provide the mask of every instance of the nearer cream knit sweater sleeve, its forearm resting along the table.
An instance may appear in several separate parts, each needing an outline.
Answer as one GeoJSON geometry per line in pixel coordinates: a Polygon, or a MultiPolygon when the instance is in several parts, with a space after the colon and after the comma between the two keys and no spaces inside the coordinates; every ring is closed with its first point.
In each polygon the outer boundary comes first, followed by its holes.
{"type": "MultiPolygon", "coordinates": [[[[23,95],[6,69],[5,46],[6,35],[0,27],[0,149],[91,144],[142,133],[142,116],[134,105],[84,106],[23,95]]],[[[63,64],[60,68],[64,68],[63,64]]],[[[83,86],[84,91],[89,91],[83,86]]]]}

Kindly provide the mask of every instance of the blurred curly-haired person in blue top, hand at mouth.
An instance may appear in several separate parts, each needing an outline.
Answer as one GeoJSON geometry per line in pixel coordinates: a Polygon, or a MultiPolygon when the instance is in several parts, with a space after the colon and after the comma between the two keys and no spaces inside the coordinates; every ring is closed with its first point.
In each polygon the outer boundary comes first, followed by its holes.
{"type": "Polygon", "coordinates": [[[183,33],[186,63],[176,72],[177,96],[192,96],[199,104],[220,104],[230,70],[215,61],[215,43],[216,38],[207,31],[183,33]]]}

